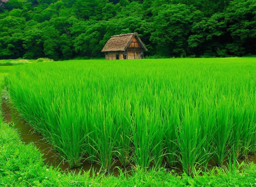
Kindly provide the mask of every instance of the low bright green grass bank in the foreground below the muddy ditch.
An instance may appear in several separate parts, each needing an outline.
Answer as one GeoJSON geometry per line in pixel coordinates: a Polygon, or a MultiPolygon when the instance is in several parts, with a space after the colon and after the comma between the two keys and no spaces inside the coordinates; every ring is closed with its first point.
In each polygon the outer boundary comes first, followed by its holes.
{"type": "MultiPolygon", "coordinates": [[[[2,67],[0,67],[2,68],[2,67]]],[[[1,70],[0,70],[1,71],[1,70]]],[[[2,72],[7,70],[3,69],[2,72]]],[[[96,176],[94,178],[88,175],[61,174],[56,169],[44,166],[40,153],[33,145],[25,146],[19,141],[17,133],[5,123],[1,122],[0,134],[0,184],[12,186],[17,185],[92,185],[92,186],[186,186],[186,185],[232,185],[238,186],[255,184],[255,165],[244,166],[242,173],[236,171],[236,168],[228,168],[227,173],[222,168],[216,168],[218,175],[214,175],[215,170],[211,173],[204,173],[204,176],[195,175],[191,178],[184,174],[182,178],[173,176],[170,173],[161,171],[145,171],[138,169],[133,176],[125,178],[113,176],[96,176]],[[91,183],[92,182],[92,183],[91,183]]]]}

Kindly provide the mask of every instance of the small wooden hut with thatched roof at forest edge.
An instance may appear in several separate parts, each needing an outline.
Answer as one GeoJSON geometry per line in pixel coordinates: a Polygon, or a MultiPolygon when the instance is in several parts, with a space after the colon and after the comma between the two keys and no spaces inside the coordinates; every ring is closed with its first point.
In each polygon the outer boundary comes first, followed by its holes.
{"type": "Polygon", "coordinates": [[[138,33],[114,35],[108,40],[101,52],[106,60],[141,59],[147,51],[138,33]]]}

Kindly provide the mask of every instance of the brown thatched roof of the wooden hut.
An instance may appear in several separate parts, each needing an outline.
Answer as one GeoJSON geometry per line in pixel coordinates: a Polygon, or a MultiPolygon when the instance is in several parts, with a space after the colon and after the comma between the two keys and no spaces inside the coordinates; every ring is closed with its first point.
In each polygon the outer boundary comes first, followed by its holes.
{"type": "Polygon", "coordinates": [[[140,46],[144,50],[148,50],[143,42],[140,40],[138,33],[130,33],[130,34],[121,34],[121,35],[114,35],[108,40],[105,44],[101,52],[107,51],[125,51],[126,48],[130,45],[133,37],[137,39],[140,43],[140,46]]]}

